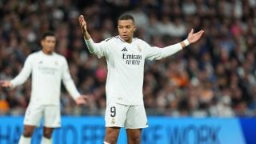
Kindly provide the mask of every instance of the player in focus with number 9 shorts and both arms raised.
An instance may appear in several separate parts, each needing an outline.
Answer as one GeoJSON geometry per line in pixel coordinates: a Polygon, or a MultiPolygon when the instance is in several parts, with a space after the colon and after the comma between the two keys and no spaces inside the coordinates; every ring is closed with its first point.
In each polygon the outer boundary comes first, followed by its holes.
{"type": "Polygon", "coordinates": [[[130,14],[122,14],[118,18],[118,36],[95,43],[86,30],[85,18],[80,15],[78,21],[90,53],[98,58],[105,57],[107,62],[106,134],[103,143],[116,143],[121,127],[126,128],[129,144],[140,143],[142,128],[148,126],[142,95],[145,59],[158,60],[175,54],[197,42],[204,31],[194,33],[192,29],[186,40],[159,48],[134,38],[134,18],[130,14]]]}

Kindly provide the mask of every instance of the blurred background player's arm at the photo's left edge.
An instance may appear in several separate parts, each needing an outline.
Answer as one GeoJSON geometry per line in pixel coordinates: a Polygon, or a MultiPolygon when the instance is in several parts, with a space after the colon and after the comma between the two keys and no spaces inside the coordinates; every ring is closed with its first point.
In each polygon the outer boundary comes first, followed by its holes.
{"type": "Polygon", "coordinates": [[[31,57],[26,58],[26,62],[21,70],[21,72],[11,81],[5,80],[1,81],[1,86],[6,88],[14,88],[18,85],[22,85],[26,82],[27,78],[29,78],[31,71],[32,71],[32,62],[33,60],[31,57]]]}

